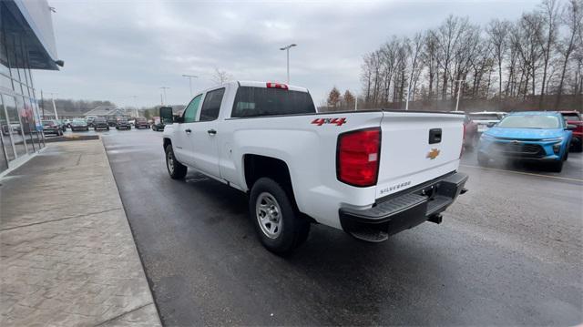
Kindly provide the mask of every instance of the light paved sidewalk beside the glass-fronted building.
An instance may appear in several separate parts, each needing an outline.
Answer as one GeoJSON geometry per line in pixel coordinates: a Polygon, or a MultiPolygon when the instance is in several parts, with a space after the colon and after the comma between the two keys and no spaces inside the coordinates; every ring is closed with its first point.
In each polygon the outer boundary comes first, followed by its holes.
{"type": "Polygon", "coordinates": [[[101,140],[0,179],[0,325],[159,326],[101,140]]]}

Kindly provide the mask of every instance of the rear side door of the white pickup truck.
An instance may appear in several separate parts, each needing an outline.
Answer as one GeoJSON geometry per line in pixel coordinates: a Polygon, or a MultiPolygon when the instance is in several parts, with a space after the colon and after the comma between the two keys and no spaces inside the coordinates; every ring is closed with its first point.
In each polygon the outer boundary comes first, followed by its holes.
{"type": "Polygon", "coordinates": [[[198,121],[191,124],[191,142],[194,156],[194,167],[217,178],[219,172],[219,137],[218,127],[220,104],[225,94],[225,88],[207,92],[200,108],[198,121]]]}

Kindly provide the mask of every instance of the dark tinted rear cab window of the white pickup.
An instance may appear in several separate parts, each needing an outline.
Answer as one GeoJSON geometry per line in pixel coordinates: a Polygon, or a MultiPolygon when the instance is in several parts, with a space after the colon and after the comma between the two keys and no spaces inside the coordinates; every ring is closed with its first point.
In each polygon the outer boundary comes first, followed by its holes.
{"type": "Polygon", "coordinates": [[[307,92],[268,87],[239,87],[231,118],[312,114],[316,112],[307,92]]]}

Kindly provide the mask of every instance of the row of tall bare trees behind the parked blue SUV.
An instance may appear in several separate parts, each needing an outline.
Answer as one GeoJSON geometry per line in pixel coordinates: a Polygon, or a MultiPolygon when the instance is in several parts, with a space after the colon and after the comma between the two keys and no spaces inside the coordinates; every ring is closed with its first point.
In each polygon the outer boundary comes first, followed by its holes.
{"type": "Polygon", "coordinates": [[[391,36],[363,56],[363,107],[403,109],[407,98],[451,107],[459,90],[463,100],[499,109],[528,101],[530,108],[581,110],[582,25],[583,0],[545,0],[516,21],[479,26],[450,15],[414,36],[391,36]]]}

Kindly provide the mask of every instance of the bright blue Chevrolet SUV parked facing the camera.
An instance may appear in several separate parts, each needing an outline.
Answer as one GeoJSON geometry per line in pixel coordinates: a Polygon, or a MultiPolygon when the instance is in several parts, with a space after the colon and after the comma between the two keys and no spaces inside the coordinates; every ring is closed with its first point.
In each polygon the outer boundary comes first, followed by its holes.
{"type": "Polygon", "coordinates": [[[482,134],[477,161],[528,160],[547,162],[560,172],[568,158],[575,126],[567,125],[558,112],[526,111],[508,114],[482,134]]]}

